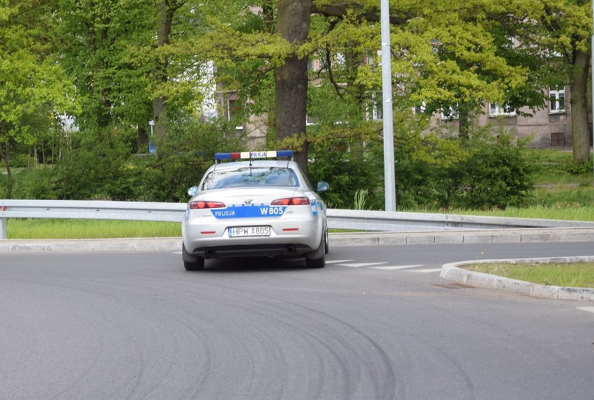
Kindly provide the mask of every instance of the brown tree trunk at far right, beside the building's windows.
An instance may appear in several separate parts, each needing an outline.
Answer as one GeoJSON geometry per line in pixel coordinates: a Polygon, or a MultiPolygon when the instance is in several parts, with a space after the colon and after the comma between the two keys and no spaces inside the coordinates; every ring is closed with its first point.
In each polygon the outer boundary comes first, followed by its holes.
{"type": "Polygon", "coordinates": [[[573,159],[586,163],[590,158],[590,130],[588,128],[588,66],[590,54],[576,51],[570,82],[571,137],[573,159]]]}

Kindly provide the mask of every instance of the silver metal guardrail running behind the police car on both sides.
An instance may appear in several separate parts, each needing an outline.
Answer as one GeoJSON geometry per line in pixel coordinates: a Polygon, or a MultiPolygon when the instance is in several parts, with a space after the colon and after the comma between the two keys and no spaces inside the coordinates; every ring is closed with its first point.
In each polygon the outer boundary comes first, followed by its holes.
{"type": "MultiPolygon", "coordinates": [[[[82,200],[0,200],[0,239],[8,218],[77,218],[181,222],[185,203],[82,200]]],[[[457,214],[328,209],[328,228],[383,232],[435,232],[517,228],[594,228],[594,222],[457,214]]]]}

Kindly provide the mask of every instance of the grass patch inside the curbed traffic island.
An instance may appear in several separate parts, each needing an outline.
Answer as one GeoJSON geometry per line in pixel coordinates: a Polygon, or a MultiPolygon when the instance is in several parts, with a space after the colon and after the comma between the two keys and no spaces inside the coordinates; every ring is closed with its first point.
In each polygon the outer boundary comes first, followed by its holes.
{"type": "Polygon", "coordinates": [[[594,288],[594,262],[487,263],[463,265],[464,269],[549,286],[594,288]]]}

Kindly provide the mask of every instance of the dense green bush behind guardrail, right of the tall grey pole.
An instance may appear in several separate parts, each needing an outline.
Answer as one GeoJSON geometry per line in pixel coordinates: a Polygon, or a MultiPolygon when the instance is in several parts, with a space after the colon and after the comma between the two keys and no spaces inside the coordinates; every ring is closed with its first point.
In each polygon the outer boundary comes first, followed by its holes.
{"type": "Polygon", "coordinates": [[[399,207],[505,208],[522,205],[533,189],[535,165],[525,144],[506,133],[400,139],[406,147],[396,156],[399,207]]]}

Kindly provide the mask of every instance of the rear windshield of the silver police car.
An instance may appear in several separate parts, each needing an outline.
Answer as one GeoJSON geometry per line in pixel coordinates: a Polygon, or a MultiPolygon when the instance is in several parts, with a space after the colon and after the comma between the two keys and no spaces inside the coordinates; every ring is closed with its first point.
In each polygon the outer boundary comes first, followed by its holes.
{"type": "Polygon", "coordinates": [[[214,170],[204,179],[202,190],[253,186],[295,187],[299,186],[299,181],[290,168],[246,167],[237,170],[214,170]]]}

